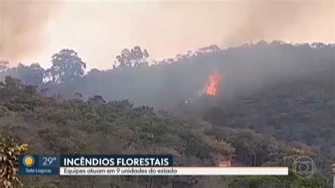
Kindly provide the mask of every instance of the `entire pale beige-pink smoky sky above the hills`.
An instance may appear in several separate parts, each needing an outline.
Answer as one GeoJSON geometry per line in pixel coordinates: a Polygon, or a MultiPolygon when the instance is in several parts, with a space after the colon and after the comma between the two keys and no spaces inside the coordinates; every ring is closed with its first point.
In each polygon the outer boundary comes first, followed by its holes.
{"type": "Polygon", "coordinates": [[[110,69],[124,47],[151,59],[257,40],[334,42],[333,0],[0,0],[0,59],[51,65],[71,48],[88,68],[110,69]]]}

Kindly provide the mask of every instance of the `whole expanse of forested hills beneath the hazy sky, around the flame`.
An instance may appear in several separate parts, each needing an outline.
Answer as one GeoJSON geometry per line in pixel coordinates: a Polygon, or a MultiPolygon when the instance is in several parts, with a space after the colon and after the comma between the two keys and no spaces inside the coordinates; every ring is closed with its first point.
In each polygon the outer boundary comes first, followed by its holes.
{"type": "MultiPolygon", "coordinates": [[[[2,134],[29,153],[171,153],[175,165],[292,166],[309,155],[317,172],[288,177],[23,177],[26,187],[330,187],[335,160],[334,45],[274,41],[210,46],[156,64],[124,49],[114,69],[85,73],[71,49],[38,64],[3,68],[2,134]],[[223,81],[201,94],[208,74],[223,81]],[[11,77],[9,77],[11,76],[11,77]],[[18,78],[18,79],[17,79],[18,78]]],[[[112,62],[111,62],[112,66],[112,62]]]]}

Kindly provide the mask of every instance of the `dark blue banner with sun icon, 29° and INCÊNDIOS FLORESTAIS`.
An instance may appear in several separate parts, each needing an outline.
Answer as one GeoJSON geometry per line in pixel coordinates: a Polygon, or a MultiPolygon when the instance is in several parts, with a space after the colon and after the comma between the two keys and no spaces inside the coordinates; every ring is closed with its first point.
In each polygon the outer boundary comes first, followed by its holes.
{"type": "Polygon", "coordinates": [[[172,155],[20,155],[18,175],[59,175],[61,167],[172,167],[172,155]]]}

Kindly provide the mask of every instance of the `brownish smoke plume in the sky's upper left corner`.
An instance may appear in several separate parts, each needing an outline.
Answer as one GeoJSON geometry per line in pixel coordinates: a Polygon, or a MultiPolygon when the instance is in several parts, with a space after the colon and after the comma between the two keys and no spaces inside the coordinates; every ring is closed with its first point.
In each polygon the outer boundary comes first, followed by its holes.
{"type": "Polygon", "coordinates": [[[0,59],[16,61],[46,44],[45,28],[59,1],[0,0],[0,59]]]}

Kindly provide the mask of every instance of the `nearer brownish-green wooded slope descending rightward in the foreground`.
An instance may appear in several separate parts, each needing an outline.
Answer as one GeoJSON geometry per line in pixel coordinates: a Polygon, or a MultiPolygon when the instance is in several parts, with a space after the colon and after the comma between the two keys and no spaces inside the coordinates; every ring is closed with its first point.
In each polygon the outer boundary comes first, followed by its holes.
{"type": "MultiPolygon", "coordinates": [[[[286,146],[250,129],[186,124],[167,112],[133,107],[127,100],[106,102],[47,98],[35,87],[6,77],[0,89],[2,135],[28,143],[28,153],[171,153],[177,166],[216,166],[216,157],[240,165],[289,165],[309,147],[286,146]],[[252,153],[251,153],[252,152],[252,153]],[[253,159],[257,155],[257,160],[253,159]]],[[[27,187],[266,187],[322,186],[321,174],[307,182],[294,177],[22,177],[27,187]]]]}

